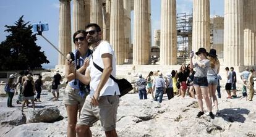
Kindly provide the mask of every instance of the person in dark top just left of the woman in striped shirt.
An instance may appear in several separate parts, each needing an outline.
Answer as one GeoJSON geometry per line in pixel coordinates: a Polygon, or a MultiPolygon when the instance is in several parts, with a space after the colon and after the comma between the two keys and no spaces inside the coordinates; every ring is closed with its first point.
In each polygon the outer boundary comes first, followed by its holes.
{"type": "Polygon", "coordinates": [[[187,88],[189,89],[189,96],[191,98],[195,99],[195,93],[194,93],[194,75],[195,75],[195,71],[193,70],[193,68],[190,67],[190,64],[187,65],[187,69],[188,69],[188,77],[187,77],[187,88]]]}

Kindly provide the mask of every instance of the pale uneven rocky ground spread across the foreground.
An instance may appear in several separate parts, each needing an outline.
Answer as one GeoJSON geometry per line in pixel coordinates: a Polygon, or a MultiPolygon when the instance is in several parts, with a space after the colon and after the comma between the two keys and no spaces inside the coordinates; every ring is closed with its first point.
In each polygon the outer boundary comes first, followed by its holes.
{"type": "MultiPolygon", "coordinates": [[[[21,112],[13,99],[14,108],[6,107],[6,97],[0,98],[0,136],[66,136],[67,114],[61,89],[60,100],[53,101],[52,94],[43,90],[41,101],[21,112]]],[[[120,99],[116,130],[119,136],[256,136],[256,99],[226,99],[222,89],[219,99],[221,114],[215,119],[198,113],[197,99],[174,97],[163,102],[139,100],[138,94],[127,94],[120,99]]],[[[237,92],[241,96],[241,91],[237,92]]],[[[31,105],[30,105],[31,106],[31,105]]],[[[205,107],[205,112],[206,106],[205,107]]],[[[216,110],[213,107],[213,113],[216,110]]],[[[105,136],[100,122],[92,128],[93,136],[105,136]]]]}

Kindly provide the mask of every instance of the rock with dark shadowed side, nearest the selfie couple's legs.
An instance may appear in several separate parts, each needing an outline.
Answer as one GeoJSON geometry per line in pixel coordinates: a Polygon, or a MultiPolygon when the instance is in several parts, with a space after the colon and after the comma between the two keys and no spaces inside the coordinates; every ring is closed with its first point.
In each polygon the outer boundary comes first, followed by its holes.
{"type": "Polygon", "coordinates": [[[39,110],[30,110],[28,112],[28,122],[56,122],[59,115],[59,109],[57,107],[45,107],[39,110]]]}

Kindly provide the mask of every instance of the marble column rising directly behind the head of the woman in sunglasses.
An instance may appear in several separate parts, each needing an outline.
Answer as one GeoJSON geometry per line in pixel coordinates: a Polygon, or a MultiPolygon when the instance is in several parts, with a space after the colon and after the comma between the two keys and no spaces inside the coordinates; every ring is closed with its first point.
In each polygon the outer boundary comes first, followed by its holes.
{"type": "MultiPolygon", "coordinates": [[[[77,30],[82,30],[85,28],[84,23],[84,1],[83,0],[73,0],[73,11],[72,11],[72,18],[73,18],[73,31],[72,34],[75,33],[77,30]]],[[[72,50],[75,49],[75,44],[72,43],[72,50]]]]}

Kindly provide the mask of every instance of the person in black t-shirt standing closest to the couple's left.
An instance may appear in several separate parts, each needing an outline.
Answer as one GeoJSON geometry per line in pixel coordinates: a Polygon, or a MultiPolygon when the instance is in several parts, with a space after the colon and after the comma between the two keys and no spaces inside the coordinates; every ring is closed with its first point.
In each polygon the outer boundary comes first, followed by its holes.
{"type": "Polygon", "coordinates": [[[51,93],[53,93],[54,101],[59,100],[59,88],[60,88],[59,85],[61,85],[61,80],[62,80],[62,77],[59,74],[59,70],[57,70],[56,74],[53,76],[53,82],[51,85],[51,93]]]}

